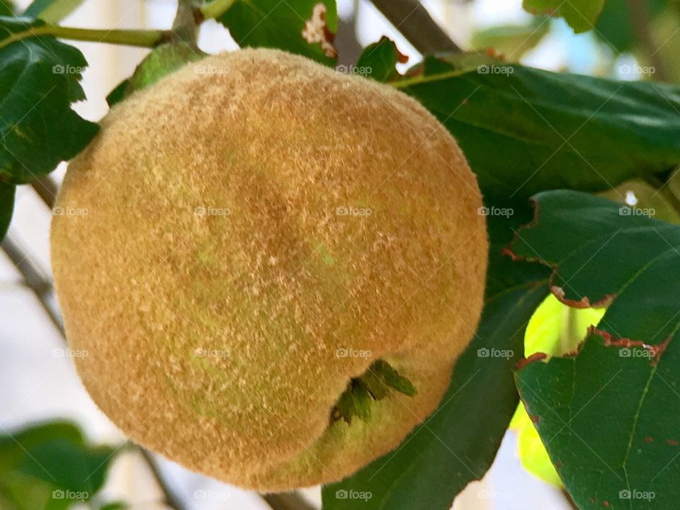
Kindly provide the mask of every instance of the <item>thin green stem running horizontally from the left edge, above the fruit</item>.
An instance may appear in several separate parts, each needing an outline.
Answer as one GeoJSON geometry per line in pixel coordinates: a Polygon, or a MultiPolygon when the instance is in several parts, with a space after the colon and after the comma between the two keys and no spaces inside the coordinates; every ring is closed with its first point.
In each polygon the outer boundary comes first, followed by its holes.
{"type": "Polygon", "coordinates": [[[108,42],[109,44],[140,47],[156,47],[170,38],[170,33],[166,30],[93,30],[48,24],[11,35],[0,42],[0,49],[18,40],[40,35],[54,35],[62,39],[108,42]]]}

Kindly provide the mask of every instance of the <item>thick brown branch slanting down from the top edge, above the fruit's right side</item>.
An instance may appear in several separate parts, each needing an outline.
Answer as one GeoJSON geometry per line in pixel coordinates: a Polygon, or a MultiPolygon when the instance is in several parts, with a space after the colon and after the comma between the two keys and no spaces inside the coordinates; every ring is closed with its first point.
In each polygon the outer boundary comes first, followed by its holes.
{"type": "Polygon", "coordinates": [[[419,0],[370,1],[423,55],[436,52],[463,52],[432,19],[419,0]]]}

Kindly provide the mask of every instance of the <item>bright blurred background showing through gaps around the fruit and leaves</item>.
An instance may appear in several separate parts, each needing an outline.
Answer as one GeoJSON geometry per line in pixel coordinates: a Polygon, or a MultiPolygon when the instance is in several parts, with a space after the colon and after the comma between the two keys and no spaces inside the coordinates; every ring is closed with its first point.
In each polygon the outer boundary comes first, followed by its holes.
{"type": "MultiPolygon", "coordinates": [[[[16,2],[20,9],[28,3],[28,0],[16,2]]],[[[339,0],[338,4],[341,23],[336,42],[341,63],[356,62],[361,47],[384,34],[409,56],[409,62],[401,64],[402,70],[420,60],[421,55],[369,1],[339,0]]],[[[680,52],[680,8],[675,1],[608,0],[595,30],[582,35],[574,35],[561,20],[529,16],[522,10],[521,0],[424,0],[422,4],[450,38],[465,49],[482,51],[494,47],[506,60],[555,71],[625,80],[680,79],[680,60],[676,58],[680,52]]],[[[175,10],[173,0],[87,0],[63,24],[87,28],[169,28],[175,10]]],[[[71,43],[80,48],[90,63],[83,80],[88,101],[79,103],[76,109],[84,118],[96,121],[108,110],[106,95],[132,74],[148,50],[71,43]]],[[[228,31],[214,21],[203,27],[199,45],[206,52],[237,47],[228,31]]],[[[49,198],[53,192],[51,184],[58,183],[64,171],[65,164],[62,164],[52,174],[53,182],[46,183],[47,188],[38,186],[40,193],[30,186],[18,188],[15,215],[0,251],[0,381],[3,385],[0,449],[13,446],[11,437],[16,431],[53,419],[79,424],[88,444],[113,446],[96,450],[98,456],[94,455],[95,468],[108,466],[111,460],[103,490],[91,502],[69,508],[123,508],[114,502],[125,502],[135,510],[300,508],[285,497],[267,500],[259,494],[193,474],[132,447],[86,395],[57,327],[58,311],[50,290],[51,210],[40,197],[42,193],[43,198],[49,198]]],[[[631,205],[647,192],[633,183],[625,188],[631,205]]],[[[597,319],[596,312],[577,314],[555,300],[548,300],[528,328],[526,350],[528,353],[568,351],[582,338],[587,325],[597,319]]],[[[15,483],[26,492],[27,510],[38,508],[30,506],[31,491],[50,488],[49,483],[45,487],[22,486],[21,480],[11,478],[11,473],[5,472],[2,476],[0,489],[15,483]]],[[[310,508],[320,506],[319,489],[307,489],[302,496],[310,508]]],[[[0,509],[3,508],[0,499],[0,509]]],[[[453,508],[573,508],[523,410],[516,414],[485,479],[468,486],[453,508]]]]}

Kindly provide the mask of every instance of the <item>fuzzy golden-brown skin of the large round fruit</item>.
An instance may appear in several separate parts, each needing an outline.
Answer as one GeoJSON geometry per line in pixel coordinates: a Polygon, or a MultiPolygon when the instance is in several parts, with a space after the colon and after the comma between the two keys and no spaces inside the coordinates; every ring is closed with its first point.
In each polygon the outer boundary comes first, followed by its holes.
{"type": "Polygon", "coordinates": [[[283,52],[208,57],[116,105],[57,205],[88,211],[56,215],[51,245],[91,397],[241,487],[332,482],[398,446],[480,316],[485,218],[448,131],[390,86],[283,52]],[[378,358],[416,395],[329,426],[378,358]]]}

